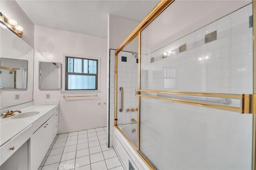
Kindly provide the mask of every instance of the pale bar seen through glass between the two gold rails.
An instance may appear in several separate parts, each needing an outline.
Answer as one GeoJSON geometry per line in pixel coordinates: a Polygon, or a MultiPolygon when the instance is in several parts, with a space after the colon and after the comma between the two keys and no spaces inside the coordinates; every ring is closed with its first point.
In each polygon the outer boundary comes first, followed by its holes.
{"type": "Polygon", "coordinates": [[[224,104],[224,105],[230,105],[232,103],[232,100],[228,98],[222,98],[222,99],[200,99],[200,98],[188,98],[183,96],[169,96],[168,94],[156,94],[156,96],[159,97],[165,97],[165,98],[173,98],[173,99],[180,99],[180,100],[189,100],[189,101],[197,101],[197,102],[209,102],[209,103],[215,103],[215,104],[224,104]]]}

